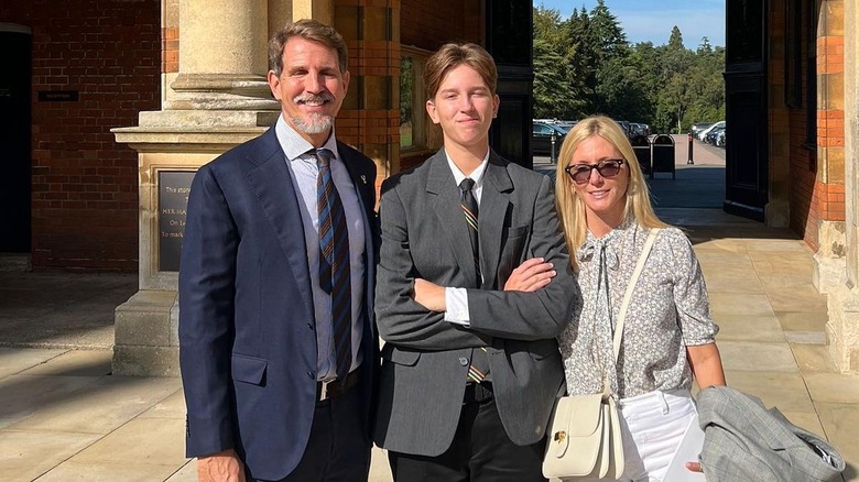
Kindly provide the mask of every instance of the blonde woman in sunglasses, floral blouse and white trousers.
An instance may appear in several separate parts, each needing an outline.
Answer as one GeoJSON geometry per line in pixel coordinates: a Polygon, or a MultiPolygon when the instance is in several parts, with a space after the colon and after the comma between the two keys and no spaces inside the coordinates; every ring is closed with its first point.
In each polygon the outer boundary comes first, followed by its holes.
{"type": "Polygon", "coordinates": [[[555,190],[581,298],[558,337],[567,392],[602,392],[608,375],[622,415],[622,480],[660,481],[702,388],[725,385],[718,327],[692,243],[653,211],[629,140],[613,120],[580,121],[561,146],[555,190]],[[660,229],[634,286],[620,355],[613,327],[645,239],[660,229]]]}

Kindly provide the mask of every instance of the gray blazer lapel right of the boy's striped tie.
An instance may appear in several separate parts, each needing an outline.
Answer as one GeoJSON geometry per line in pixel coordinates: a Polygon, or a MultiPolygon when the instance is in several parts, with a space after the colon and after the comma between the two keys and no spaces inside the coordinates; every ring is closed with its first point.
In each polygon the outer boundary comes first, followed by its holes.
{"type": "Polygon", "coordinates": [[[493,151],[483,174],[483,191],[480,195],[478,232],[480,233],[480,270],[483,272],[483,289],[496,289],[498,263],[504,240],[501,234],[509,222],[507,212],[510,201],[505,193],[513,190],[513,182],[507,172],[507,163],[493,151]]]}

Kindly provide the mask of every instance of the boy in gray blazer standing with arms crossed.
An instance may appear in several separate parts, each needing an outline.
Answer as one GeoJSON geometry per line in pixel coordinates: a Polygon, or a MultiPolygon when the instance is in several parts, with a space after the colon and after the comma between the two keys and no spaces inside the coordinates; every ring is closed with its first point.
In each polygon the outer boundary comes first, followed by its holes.
{"type": "Polygon", "coordinates": [[[551,182],[489,147],[482,47],[444,45],[424,76],[444,146],[382,185],[373,439],[400,482],[544,481],[555,338],[577,300],[551,182]]]}

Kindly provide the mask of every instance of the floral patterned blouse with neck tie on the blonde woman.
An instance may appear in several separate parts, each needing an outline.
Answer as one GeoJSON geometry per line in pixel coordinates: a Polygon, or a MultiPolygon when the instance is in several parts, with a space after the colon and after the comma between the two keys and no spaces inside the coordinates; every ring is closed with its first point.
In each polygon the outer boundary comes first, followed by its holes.
{"type": "Polygon", "coordinates": [[[632,294],[615,365],[613,326],[648,233],[628,220],[599,239],[588,232],[576,252],[581,298],[558,337],[570,395],[601,392],[604,366],[620,398],[655,390],[688,390],[692,370],[686,347],[714,342],[719,327],[710,316],[692,243],[679,229],[665,228],[656,235],[632,294]]]}

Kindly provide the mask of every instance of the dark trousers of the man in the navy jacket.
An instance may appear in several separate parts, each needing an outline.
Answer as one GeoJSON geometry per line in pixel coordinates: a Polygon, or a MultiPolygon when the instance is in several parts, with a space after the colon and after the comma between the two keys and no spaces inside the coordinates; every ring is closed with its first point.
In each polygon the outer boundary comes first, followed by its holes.
{"type": "MultiPolygon", "coordinates": [[[[316,403],[301,462],[280,482],[356,482],[370,474],[370,449],[361,387],[316,403]]],[[[247,480],[260,481],[248,476],[247,480]]]]}

